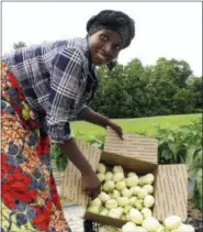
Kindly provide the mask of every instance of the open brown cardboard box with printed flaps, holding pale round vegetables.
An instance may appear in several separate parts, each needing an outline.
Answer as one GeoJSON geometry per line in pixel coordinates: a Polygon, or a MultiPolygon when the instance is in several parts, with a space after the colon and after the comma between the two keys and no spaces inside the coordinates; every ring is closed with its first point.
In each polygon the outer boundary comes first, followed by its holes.
{"type": "MultiPolygon", "coordinates": [[[[125,170],[134,170],[138,175],[155,175],[153,214],[158,220],[177,214],[182,221],[187,219],[188,175],[184,165],[158,165],[158,141],[151,137],[124,133],[121,141],[114,131],[106,130],[104,150],[100,151],[89,143],[78,141],[78,146],[97,169],[99,162],[106,165],[122,165],[125,170]]],[[[64,197],[87,208],[88,197],[82,191],[80,172],[69,162],[61,185],[64,197]]],[[[84,219],[121,228],[124,220],[112,219],[86,212],[84,219]]]]}

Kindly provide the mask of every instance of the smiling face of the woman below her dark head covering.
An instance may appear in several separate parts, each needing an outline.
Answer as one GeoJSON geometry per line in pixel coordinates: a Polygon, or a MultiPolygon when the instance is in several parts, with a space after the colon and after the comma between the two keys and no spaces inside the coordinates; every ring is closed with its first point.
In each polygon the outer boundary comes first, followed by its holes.
{"type": "Polygon", "coordinates": [[[122,48],[122,38],[116,31],[101,30],[88,37],[92,63],[97,66],[117,57],[122,48]]]}

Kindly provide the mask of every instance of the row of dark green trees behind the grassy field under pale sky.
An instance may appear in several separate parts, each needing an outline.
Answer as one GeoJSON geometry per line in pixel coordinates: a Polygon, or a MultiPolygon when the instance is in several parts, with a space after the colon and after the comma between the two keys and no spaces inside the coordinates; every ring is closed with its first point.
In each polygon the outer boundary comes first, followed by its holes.
{"type": "Polygon", "coordinates": [[[90,106],[110,118],[137,118],[202,112],[202,78],[190,65],[158,58],[144,66],[137,58],[110,71],[98,69],[99,89],[90,106]]]}

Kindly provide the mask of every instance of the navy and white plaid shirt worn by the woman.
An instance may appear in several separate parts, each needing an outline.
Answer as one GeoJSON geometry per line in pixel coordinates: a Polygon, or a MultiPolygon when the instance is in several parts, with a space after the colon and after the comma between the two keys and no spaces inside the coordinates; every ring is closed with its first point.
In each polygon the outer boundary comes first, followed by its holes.
{"type": "Polygon", "coordinates": [[[44,114],[42,124],[53,142],[70,139],[69,120],[87,108],[88,53],[87,40],[74,38],[43,43],[3,57],[30,106],[44,114]]]}

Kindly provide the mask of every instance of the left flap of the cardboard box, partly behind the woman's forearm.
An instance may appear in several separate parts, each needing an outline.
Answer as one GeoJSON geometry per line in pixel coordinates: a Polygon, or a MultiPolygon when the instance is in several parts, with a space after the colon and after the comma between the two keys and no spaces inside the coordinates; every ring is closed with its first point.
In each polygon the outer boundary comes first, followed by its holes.
{"type": "MultiPolygon", "coordinates": [[[[90,143],[84,141],[76,140],[76,142],[79,150],[95,170],[100,161],[101,150],[95,146],[91,146],[90,143]]],[[[88,196],[82,190],[81,174],[71,162],[68,162],[64,174],[61,181],[61,196],[83,207],[87,207],[89,200],[88,196]]]]}

